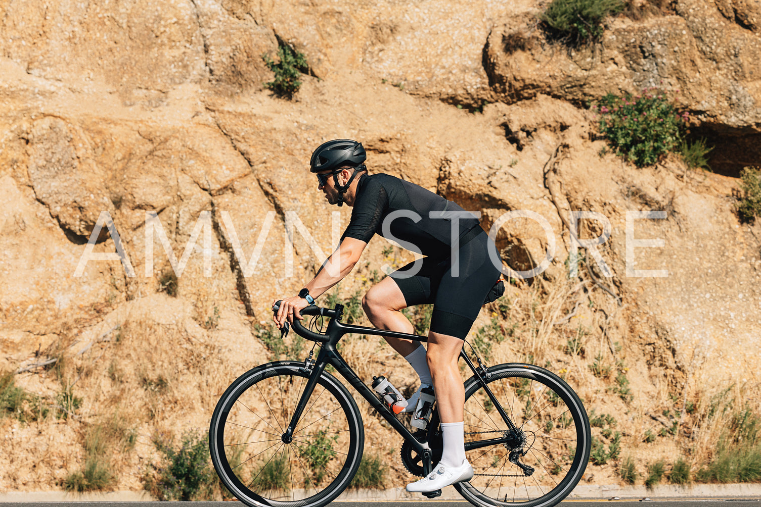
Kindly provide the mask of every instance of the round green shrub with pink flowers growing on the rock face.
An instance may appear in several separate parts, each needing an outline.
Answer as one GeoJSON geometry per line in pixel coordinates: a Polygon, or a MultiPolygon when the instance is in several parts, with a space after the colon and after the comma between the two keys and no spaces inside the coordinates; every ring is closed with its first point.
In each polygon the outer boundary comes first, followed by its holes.
{"type": "Polygon", "coordinates": [[[680,146],[687,113],[680,116],[658,90],[646,88],[636,97],[608,93],[595,109],[600,113],[600,132],[616,154],[636,166],[656,163],[658,157],[680,146]]]}

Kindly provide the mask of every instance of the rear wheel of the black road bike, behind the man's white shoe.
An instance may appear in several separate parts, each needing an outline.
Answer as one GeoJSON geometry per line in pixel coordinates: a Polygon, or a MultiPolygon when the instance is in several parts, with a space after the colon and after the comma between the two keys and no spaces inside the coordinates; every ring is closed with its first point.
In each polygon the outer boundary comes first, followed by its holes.
{"type": "MultiPolygon", "coordinates": [[[[522,464],[509,460],[505,444],[466,452],[473,479],[455,488],[480,507],[552,507],[565,499],[581,479],[591,450],[591,431],[584,405],[558,375],[539,366],[507,363],[488,369],[486,383],[521,430],[522,464]]],[[[465,382],[465,441],[507,435],[508,426],[493,407],[479,380],[465,382]]]]}

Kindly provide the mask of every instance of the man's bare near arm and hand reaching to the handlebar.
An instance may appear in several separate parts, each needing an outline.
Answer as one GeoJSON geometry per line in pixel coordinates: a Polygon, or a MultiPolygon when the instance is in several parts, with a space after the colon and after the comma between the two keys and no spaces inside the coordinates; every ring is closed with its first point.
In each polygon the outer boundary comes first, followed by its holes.
{"type": "MultiPolygon", "coordinates": [[[[317,299],[325,293],[326,290],[333,287],[343,280],[349,274],[359,261],[362,252],[368,246],[367,242],[355,238],[344,238],[336,252],[330,255],[325,261],[314,278],[305,286],[309,290],[309,295],[317,299]]],[[[275,302],[272,302],[274,306],[275,302]]],[[[292,296],[282,300],[277,315],[273,318],[275,324],[282,328],[285,320],[293,322],[294,316],[299,320],[303,319],[299,312],[309,306],[307,300],[299,296],[292,296]]]]}

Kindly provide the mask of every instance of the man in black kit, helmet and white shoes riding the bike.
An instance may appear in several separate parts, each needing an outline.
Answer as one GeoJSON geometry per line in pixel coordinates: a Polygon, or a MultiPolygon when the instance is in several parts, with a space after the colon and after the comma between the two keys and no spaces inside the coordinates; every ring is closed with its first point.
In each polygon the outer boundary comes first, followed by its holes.
{"type": "Polygon", "coordinates": [[[318,189],[330,204],[353,207],[352,218],[336,252],[298,296],[282,299],[274,320],[278,327],[286,319],[301,320],[301,309],[352,271],[374,234],[425,255],[371,287],[362,307],[376,328],[412,334],[412,324],[401,310],[434,303],[427,351],[415,341],[386,338],[420,376],[420,388],[406,411],[414,410],[425,385],[432,384],[435,390],[444,441],[441,461],[431,474],[406,488],[428,493],[473,477],[465,456],[465,391],[457,359],[500,271],[489,258],[494,243],[474,214],[394,176],[369,175],[366,158],[362,144],[349,139],[327,141],[312,154],[310,171],[317,173],[318,189]],[[339,263],[339,270],[328,269],[329,263],[339,263]]]}

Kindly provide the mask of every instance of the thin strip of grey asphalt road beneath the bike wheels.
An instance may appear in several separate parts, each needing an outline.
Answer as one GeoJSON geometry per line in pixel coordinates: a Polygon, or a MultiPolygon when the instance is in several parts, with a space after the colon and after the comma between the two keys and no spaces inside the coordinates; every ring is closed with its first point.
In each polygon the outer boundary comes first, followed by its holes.
{"type": "MultiPolygon", "coordinates": [[[[719,498],[719,499],[639,499],[625,500],[565,500],[562,507],[761,507],[761,499],[719,498]],[[644,505],[643,505],[644,504],[644,505]]],[[[167,506],[177,505],[176,502],[167,506]]],[[[232,507],[243,505],[238,502],[182,502],[182,507],[232,507]]],[[[414,505],[415,507],[470,507],[468,502],[451,500],[388,500],[385,502],[333,502],[336,507],[390,507],[390,505],[414,505]]],[[[156,507],[156,502],[0,502],[0,507],[156,507]]]]}

